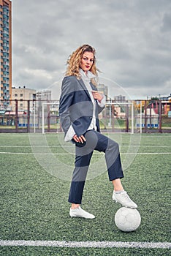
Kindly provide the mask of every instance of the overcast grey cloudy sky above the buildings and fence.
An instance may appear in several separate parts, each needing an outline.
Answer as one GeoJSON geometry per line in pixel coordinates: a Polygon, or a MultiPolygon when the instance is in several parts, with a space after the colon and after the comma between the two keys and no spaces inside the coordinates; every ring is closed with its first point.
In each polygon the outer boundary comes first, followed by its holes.
{"type": "Polygon", "coordinates": [[[12,86],[58,98],[66,60],[85,43],[110,97],[170,95],[170,0],[12,0],[12,86]]]}

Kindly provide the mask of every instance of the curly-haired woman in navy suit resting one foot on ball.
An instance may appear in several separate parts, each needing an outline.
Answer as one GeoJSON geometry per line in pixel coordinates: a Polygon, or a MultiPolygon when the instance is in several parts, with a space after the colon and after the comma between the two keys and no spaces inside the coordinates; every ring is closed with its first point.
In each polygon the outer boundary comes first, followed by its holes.
{"type": "Polygon", "coordinates": [[[104,109],[105,97],[95,86],[97,77],[95,50],[91,45],[77,48],[67,61],[66,77],[62,81],[59,116],[65,141],[75,143],[75,170],[69,192],[70,217],[94,219],[81,207],[88,166],[94,150],[103,151],[113,200],[122,206],[137,208],[121,184],[123,170],[118,143],[100,133],[98,114],[104,109]]]}

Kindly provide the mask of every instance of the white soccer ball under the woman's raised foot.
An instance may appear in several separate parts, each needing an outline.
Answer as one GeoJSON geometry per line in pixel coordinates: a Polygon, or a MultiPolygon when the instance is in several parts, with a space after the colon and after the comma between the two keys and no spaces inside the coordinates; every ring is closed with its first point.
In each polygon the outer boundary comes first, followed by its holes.
{"type": "Polygon", "coordinates": [[[137,230],[140,226],[141,216],[137,209],[121,207],[115,213],[115,225],[123,232],[137,230]]]}

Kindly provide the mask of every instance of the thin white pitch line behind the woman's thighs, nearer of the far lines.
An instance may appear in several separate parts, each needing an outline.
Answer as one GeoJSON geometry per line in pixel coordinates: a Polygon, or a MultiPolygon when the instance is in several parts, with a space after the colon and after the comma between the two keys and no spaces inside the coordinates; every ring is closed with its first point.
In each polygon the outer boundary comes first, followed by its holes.
{"type": "MultiPolygon", "coordinates": [[[[75,153],[27,153],[27,152],[0,152],[0,154],[30,154],[30,155],[75,155],[75,153]]],[[[102,155],[101,153],[94,153],[95,155],[102,155]]],[[[171,154],[171,152],[152,152],[152,153],[121,153],[121,154],[171,154]]]]}

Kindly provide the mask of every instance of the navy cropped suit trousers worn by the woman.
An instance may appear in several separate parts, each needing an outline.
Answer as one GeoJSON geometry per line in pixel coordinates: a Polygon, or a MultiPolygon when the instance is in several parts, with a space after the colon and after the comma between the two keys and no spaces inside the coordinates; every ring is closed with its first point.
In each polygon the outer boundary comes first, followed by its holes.
{"type": "Polygon", "coordinates": [[[87,131],[84,136],[86,145],[83,147],[75,146],[75,170],[69,191],[69,203],[81,204],[88,167],[94,150],[105,153],[110,181],[123,178],[118,143],[95,130],[87,131]]]}

